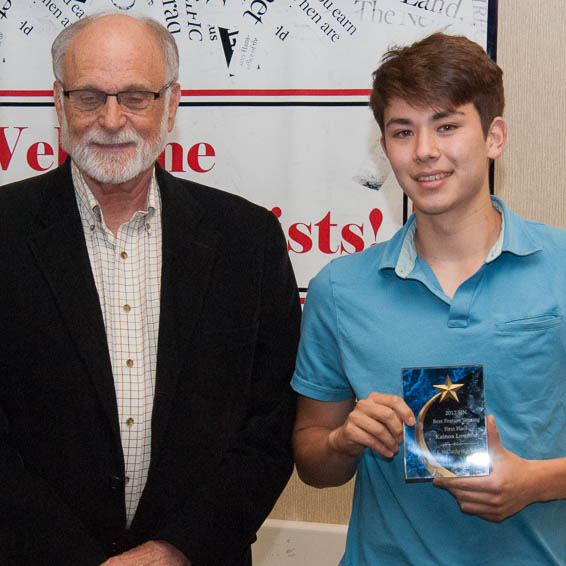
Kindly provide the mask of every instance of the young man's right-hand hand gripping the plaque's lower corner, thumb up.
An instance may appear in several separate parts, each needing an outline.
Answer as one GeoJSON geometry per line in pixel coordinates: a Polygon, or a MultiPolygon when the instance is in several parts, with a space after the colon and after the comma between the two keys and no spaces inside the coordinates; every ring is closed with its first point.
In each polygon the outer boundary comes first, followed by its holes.
{"type": "Polygon", "coordinates": [[[487,440],[491,457],[489,476],[436,478],[434,485],[448,490],[462,512],[499,523],[536,501],[536,462],[503,447],[493,415],[487,418],[487,440]]]}

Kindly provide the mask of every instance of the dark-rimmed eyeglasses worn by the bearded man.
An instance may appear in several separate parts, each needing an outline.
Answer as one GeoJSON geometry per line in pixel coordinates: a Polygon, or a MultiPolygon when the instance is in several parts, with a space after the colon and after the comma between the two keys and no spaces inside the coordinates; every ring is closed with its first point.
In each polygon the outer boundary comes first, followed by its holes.
{"type": "Polygon", "coordinates": [[[148,90],[124,90],[111,94],[95,88],[80,88],[77,90],[64,90],[71,104],[80,112],[95,112],[106,104],[109,96],[115,96],[118,104],[132,112],[147,110],[171,85],[167,83],[159,92],[148,90]]]}

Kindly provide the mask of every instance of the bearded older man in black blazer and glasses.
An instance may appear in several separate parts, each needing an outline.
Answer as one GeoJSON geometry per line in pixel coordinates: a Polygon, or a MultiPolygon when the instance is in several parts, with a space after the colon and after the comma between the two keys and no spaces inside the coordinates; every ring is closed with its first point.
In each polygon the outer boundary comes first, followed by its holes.
{"type": "Polygon", "coordinates": [[[158,23],[53,44],[59,169],[0,190],[2,564],[244,565],[292,468],[300,307],[276,218],[155,165],[158,23]]]}

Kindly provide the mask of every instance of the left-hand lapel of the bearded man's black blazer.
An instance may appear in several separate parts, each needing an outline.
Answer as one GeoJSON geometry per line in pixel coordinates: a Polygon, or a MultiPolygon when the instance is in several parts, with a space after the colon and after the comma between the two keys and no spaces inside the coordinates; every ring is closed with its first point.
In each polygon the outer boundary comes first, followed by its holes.
{"type": "Polygon", "coordinates": [[[120,443],[118,408],[104,319],[69,164],[62,166],[51,179],[45,187],[41,226],[29,237],[29,245],[120,443]]]}

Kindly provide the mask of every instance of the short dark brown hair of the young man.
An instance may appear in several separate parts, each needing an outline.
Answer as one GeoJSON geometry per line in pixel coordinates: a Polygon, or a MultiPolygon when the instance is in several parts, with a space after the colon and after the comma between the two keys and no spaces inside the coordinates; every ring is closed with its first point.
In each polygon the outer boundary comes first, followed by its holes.
{"type": "Polygon", "coordinates": [[[382,133],[385,108],[396,97],[412,106],[439,110],[471,102],[487,136],[505,106],[503,71],[468,38],[434,33],[408,47],[389,50],[373,73],[369,105],[382,133]]]}

